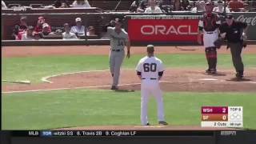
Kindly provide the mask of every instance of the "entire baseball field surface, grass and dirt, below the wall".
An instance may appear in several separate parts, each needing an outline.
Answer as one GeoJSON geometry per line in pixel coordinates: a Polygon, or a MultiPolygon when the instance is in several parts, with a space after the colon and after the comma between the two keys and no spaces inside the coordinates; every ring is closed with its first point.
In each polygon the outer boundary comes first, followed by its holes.
{"type": "MultiPolygon", "coordinates": [[[[256,130],[255,45],[243,50],[245,79],[239,82],[225,46],[218,50],[215,75],[204,72],[202,46],[155,48],[166,67],[160,83],[168,128],[200,128],[201,106],[243,106],[244,128],[256,130]]],[[[146,46],[131,47],[117,91],[110,90],[108,54],[109,46],[2,47],[2,79],[30,81],[2,82],[2,130],[140,126],[140,81],[134,69],[146,46]]],[[[158,126],[154,98],[149,119],[158,126]]]]}

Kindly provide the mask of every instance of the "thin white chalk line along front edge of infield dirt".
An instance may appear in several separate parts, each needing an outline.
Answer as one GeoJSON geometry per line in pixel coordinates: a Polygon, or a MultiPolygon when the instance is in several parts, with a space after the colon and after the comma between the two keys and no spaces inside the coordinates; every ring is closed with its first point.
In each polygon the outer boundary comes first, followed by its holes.
{"type": "MultiPolygon", "coordinates": [[[[159,82],[170,82],[170,81],[159,81],[159,82]]],[[[140,85],[141,83],[127,83],[118,86],[130,86],[130,85],[140,85]]],[[[97,88],[97,87],[110,87],[111,85],[98,85],[98,86],[79,86],[79,87],[62,87],[56,89],[38,89],[38,90],[17,90],[17,91],[6,91],[2,94],[13,94],[13,93],[26,93],[26,92],[39,92],[39,91],[50,91],[50,90],[77,90],[86,88],[97,88]]]]}

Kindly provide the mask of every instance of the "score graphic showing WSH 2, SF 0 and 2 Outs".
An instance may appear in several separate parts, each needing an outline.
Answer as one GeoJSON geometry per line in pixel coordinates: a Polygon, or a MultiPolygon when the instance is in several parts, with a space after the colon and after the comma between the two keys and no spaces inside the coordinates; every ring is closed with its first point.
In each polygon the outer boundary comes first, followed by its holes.
{"type": "Polygon", "coordinates": [[[202,106],[202,127],[242,128],[242,106],[202,106]]]}

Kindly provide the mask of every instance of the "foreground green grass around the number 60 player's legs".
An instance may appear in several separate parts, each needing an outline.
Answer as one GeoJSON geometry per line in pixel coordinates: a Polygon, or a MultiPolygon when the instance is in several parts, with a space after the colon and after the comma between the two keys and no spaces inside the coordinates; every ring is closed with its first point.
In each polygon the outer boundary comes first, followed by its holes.
{"type": "MultiPolygon", "coordinates": [[[[255,93],[165,93],[170,125],[200,125],[201,106],[243,106],[244,127],[256,129],[255,93]]],[[[150,99],[150,123],[157,123],[150,99]]],[[[140,125],[140,93],[110,90],[55,90],[3,94],[2,130],[43,130],[70,126],[140,125]]]]}

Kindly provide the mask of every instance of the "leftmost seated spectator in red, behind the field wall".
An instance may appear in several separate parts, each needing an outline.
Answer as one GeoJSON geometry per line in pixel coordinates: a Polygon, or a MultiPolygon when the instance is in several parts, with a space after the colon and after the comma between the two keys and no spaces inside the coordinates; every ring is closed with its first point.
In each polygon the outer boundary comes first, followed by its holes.
{"type": "Polygon", "coordinates": [[[15,37],[15,40],[22,39],[22,34],[26,33],[27,27],[26,16],[22,16],[20,18],[20,23],[14,26],[13,36],[15,37]]]}

